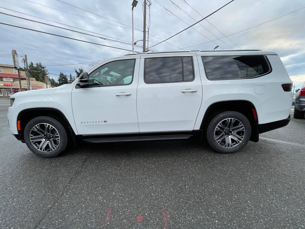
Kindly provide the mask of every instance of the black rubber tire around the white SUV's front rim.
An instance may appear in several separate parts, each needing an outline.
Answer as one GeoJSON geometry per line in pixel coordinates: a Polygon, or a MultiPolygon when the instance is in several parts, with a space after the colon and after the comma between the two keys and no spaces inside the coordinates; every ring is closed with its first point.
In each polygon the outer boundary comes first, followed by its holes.
{"type": "Polygon", "coordinates": [[[32,120],[30,120],[30,122],[28,122],[27,125],[25,126],[23,136],[24,136],[24,141],[27,144],[27,147],[30,149],[30,151],[32,151],[34,154],[37,154],[43,158],[56,157],[62,151],[64,151],[67,146],[68,138],[67,138],[67,133],[66,133],[65,128],[56,119],[47,117],[47,116],[40,116],[40,117],[33,118],[32,120]],[[42,152],[32,145],[32,143],[30,141],[30,131],[35,125],[37,125],[39,123],[47,123],[47,124],[55,127],[55,129],[57,130],[59,137],[60,137],[60,141],[55,150],[50,151],[50,152],[42,152]]]}

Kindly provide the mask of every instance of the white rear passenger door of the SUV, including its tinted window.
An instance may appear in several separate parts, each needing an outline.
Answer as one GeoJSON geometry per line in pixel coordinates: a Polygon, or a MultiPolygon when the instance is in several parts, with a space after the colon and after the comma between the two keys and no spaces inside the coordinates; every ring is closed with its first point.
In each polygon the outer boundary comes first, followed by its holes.
{"type": "Polygon", "coordinates": [[[193,130],[201,101],[196,56],[141,57],[137,91],[140,132],[193,130]]]}

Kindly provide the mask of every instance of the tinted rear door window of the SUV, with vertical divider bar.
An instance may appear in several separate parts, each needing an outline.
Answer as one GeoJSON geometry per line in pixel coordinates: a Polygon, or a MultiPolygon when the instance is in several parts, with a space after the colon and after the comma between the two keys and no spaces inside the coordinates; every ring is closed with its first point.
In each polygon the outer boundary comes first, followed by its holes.
{"type": "Polygon", "coordinates": [[[193,79],[192,57],[157,57],[145,59],[145,82],[163,83],[193,79]],[[182,67],[183,66],[183,67],[182,67]]]}

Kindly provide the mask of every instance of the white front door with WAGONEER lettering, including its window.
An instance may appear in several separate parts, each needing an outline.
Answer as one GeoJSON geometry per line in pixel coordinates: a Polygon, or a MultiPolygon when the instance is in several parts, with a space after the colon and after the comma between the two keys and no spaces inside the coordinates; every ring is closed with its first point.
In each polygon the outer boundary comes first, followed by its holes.
{"type": "Polygon", "coordinates": [[[72,90],[78,134],[139,132],[137,84],[140,59],[103,64],[89,73],[89,86],[72,90]]]}

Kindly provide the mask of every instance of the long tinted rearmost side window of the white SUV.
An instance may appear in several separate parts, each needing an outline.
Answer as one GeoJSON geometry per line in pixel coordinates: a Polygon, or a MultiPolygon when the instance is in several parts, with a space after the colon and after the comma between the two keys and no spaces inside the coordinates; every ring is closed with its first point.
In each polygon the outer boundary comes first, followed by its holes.
{"type": "Polygon", "coordinates": [[[270,72],[265,56],[202,56],[209,80],[251,78],[270,72]]]}

